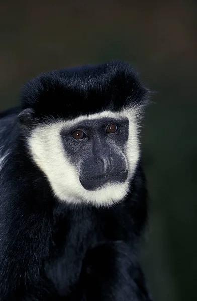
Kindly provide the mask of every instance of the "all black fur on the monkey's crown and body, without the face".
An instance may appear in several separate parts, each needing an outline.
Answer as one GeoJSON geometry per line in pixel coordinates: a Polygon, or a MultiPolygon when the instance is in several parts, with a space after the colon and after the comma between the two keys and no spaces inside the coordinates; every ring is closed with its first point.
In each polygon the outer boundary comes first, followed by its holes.
{"type": "Polygon", "coordinates": [[[128,102],[143,106],[147,93],[129,65],[111,62],[43,74],[25,85],[21,108],[0,114],[0,157],[9,151],[0,171],[1,301],[150,301],[137,257],[147,218],[140,162],[117,205],[60,203],[32,162],[17,117],[26,108],[34,110],[32,124],[117,111],[128,102]]]}

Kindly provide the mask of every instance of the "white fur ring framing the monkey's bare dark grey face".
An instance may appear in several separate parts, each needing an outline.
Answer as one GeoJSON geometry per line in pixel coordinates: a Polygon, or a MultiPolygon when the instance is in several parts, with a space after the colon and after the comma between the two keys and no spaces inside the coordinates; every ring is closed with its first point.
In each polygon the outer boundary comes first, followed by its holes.
{"type": "MultiPolygon", "coordinates": [[[[138,130],[135,109],[125,109],[120,113],[104,111],[92,115],[80,116],[72,120],[53,120],[38,126],[29,138],[29,147],[33,160],[47,176],[54,194],[61,201],[68,203],[93,203],[94,205],[112,205],[120,201],[128,192],[136,164],[139,159],[138,130]],[[95,191],[86,190],[80,183],[76,168],[69,162],[65,154],[60,131],[62,128],[83,121],[102,117],[129,120],[129,139],[126,146],[128,179],[123,184],[107,184],[95,191]]],[[[119,150],[120,151],[120,150],[119,150]]]]}

